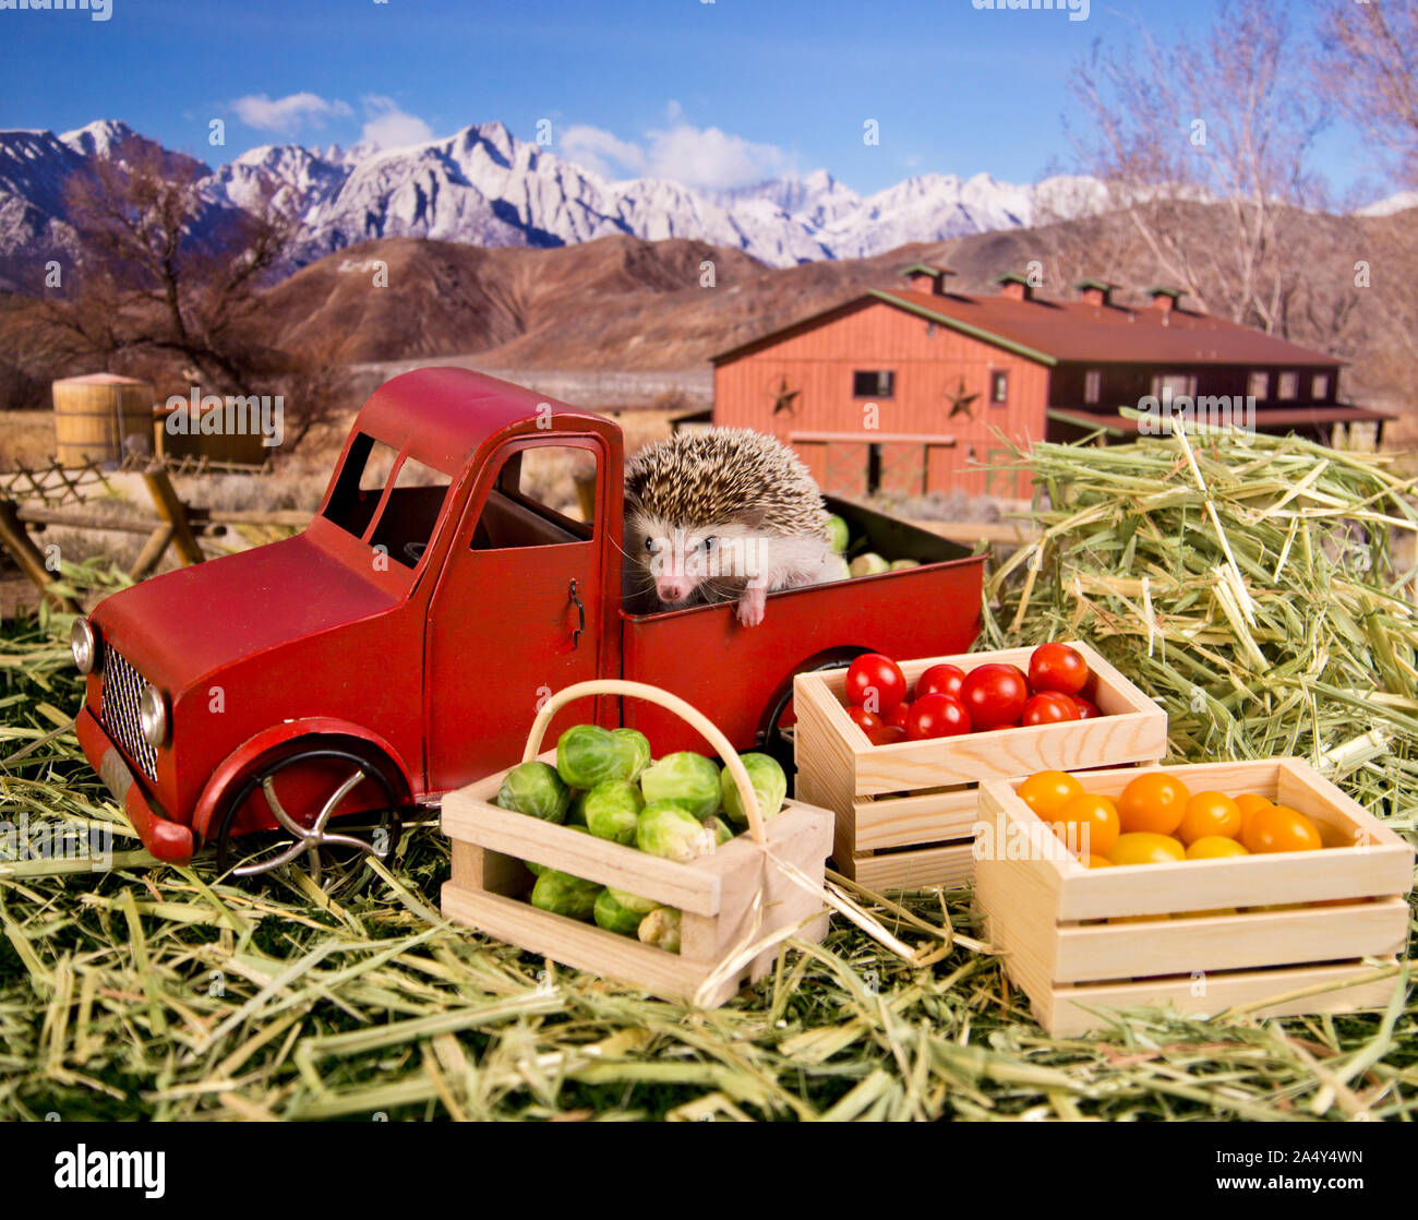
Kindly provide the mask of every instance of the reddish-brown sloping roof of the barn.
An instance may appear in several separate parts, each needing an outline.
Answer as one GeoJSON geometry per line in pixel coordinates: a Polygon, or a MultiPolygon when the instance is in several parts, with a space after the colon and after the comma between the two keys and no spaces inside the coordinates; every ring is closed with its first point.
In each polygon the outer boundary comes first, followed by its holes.
{"type": "Polygon", "coordinates": [[[1085,301],[1017,301],[961,292],[875,288],[864,296],[814,314],[713,356],[727,363],[771,346],[790,333],[814,329],[875,301],[971,335],[1041,365],[1289,365],[1337,369],[1343,362],[1265,335],[1249,326],[1190,309],[1089,305],[1085,301]]]}

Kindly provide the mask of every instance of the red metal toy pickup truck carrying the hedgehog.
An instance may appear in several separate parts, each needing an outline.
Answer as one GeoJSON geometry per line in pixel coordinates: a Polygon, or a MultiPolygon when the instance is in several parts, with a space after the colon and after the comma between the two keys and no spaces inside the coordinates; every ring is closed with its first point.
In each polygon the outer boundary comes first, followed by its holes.
{"type": "MultiPolygon", "coordinates": [[[[838,502],[872,549],[922,566],[771,594],[749,628],[732,603],[630,614],[621,471],[601,416],[462,369],[396,377],[305,532],[75,621],[85,755],[163,860],[214,844],[225,867],[235,837],[284,828],[235,870],[250,874],[323,845],[387,850],[411,809],[516,760],[539,702],[571,682],[652,682],[736,748],[780,750],[794,672],[974,640],[983,560],[838,502]],[[584,519],[552,494],[573,475],[584,519]],[[386,833],[329,828],[353,814],[386,833]]],[[[552,732],[591,718],[657,753],[702,748],[638,701],[587,701],[552,732]]]]}

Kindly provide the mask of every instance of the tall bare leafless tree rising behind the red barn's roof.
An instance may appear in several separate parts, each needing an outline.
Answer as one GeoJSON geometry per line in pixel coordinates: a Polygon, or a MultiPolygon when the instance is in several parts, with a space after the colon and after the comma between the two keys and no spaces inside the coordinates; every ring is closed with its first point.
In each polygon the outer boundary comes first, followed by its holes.
{"type": "Polygon", "coordinates": [[[1222,0],[1205,35],[1170,47],[1137,24],[1127,45],[1095,43],[1079,65],[1089,122],[1069,131],[1167,279],[1207,312],[1280,333],[1303,275],[1290,234],[1317,196],[1306,166],[1326,121],[1293,72],[1297,52],[1285,6],[1266,0],[1222,0]]]}

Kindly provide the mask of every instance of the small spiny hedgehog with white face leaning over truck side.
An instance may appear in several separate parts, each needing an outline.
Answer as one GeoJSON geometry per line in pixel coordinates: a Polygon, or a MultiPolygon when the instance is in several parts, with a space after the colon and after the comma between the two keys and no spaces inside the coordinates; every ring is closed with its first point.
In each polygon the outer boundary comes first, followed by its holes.
{"type": "Polygon", "coordinates": [[[736,600],[763,621],[769,593],[832,579],[822,494],[783,444],[747,428],[676,433],[625,468],[631,590],[658,609],[736,600]]]}

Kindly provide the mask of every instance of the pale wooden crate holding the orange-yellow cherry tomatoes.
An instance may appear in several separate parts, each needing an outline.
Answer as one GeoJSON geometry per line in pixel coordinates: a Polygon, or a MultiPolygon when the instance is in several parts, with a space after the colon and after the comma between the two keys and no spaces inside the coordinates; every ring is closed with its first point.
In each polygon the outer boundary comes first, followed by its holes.
{"type": "MultiPolygon", "coordinates": [[[[976,904],[1039,1024],[1072,1037],[1105,1024],[1090,1009],[1256,1004],[1292,1016],[1387,1004],[1394,970],[1373,959],[1404,952],[1414,850],[1300,759],[1161,770],[1193,792],[1258,792],[1297,809],[1327,850],[1089,870],[1020,800],[1018,780],[986,782],[976,904]],[[1276,906],[1288,909],[1255,909],[1276,906]],[[1238,914],[1188,914],[1228,908],[1238,914]],[[1096,922],[1149,915],[1180,918],[1096,922]],[[1296,994],[1320,987],[1334,990],[1296,994]]],[[[1132,777],[1078,775],[1106,796],[1132,777]]]]}

